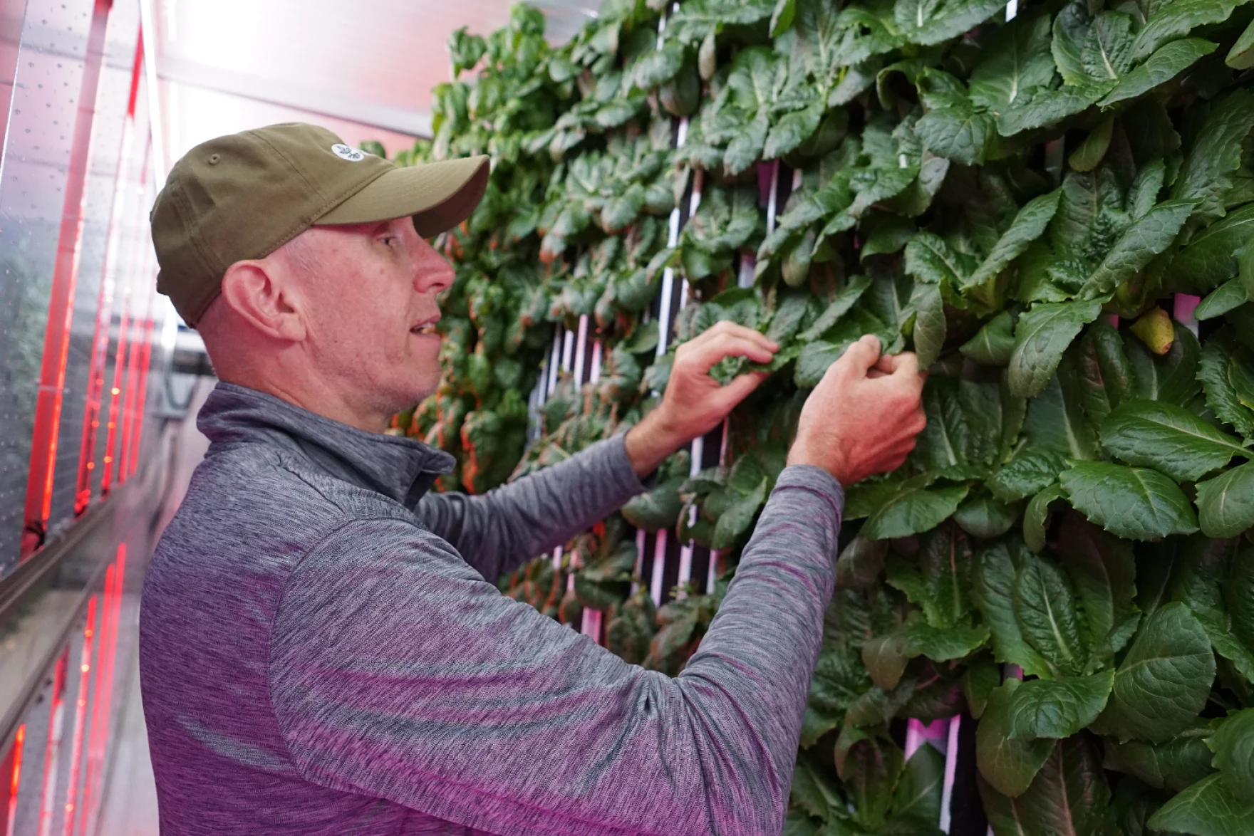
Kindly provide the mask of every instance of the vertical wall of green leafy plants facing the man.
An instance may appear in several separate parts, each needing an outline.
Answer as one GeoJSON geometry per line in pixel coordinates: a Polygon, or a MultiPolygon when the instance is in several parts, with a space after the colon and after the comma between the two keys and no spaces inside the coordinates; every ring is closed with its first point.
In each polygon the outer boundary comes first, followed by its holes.
{"type": "Polygon", "coordinates": [[[776,340],[655,489],[499,579],[677,673],[808,390],[863,333],[915,351],[928,427],[848,486],[785,832],[1251,833],[1251,20],[609,0],[559,48],[527,6],[454,33],[398,162],[493,174],[395,431],[483,493],[637,421],[712,323],[776,340]]]}

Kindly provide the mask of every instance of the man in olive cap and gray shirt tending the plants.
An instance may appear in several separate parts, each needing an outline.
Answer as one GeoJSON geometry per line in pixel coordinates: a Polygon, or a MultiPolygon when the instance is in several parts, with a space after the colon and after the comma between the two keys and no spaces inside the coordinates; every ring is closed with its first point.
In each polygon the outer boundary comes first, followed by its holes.
{"type": "Polygon", "coordinates": [[[140,674],[164,833],[777,833],[831,595],[841,483],[923,426],[910,355],[874,337],[806,401],[789,466],[676,678],[504,598],[502,572],[643,490],[761,380],[720,323],[624,435],[483,496],[382,434],[439,379],[424,241],[485,158],[396,169],[311,125],[197,147],[152,214],[158,287],[222,382],[212,444],[144,584],[140,674]]]}

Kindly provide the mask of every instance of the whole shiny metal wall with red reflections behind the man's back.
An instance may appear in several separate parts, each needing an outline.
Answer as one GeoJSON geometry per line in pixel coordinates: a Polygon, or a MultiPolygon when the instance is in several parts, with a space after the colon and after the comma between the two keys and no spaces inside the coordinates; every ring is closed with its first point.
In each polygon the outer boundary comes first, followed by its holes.
{"type": "Polygon", "coordinates": [[[167,488],[138,40],[139,0],[0,0],[0,833],[94,832],[167,488]]]}

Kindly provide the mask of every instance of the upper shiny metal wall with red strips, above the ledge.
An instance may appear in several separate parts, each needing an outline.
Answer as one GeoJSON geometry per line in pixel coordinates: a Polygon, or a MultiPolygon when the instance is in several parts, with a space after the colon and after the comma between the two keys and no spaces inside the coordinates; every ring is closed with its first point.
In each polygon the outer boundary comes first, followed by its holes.
{"type": "Polygon", "coordinates": [[[30,0],[20,31],[0,162],[0,578],[135,466],[166,312],[139,0],[30,0]]]}

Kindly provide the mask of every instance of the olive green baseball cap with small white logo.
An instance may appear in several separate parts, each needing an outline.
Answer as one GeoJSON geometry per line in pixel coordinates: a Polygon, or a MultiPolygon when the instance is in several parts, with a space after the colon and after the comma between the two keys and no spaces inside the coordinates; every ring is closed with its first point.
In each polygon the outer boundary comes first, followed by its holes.
{"type": "Polygon", "coordinates": [[[314,226],[413,216],[429,238],[470,216],[488,172],[487,157],[398,168],[302,123],[211,139],[174,163],[149,214],[157,291],[194,326],[234,262],[314,226]]]}

